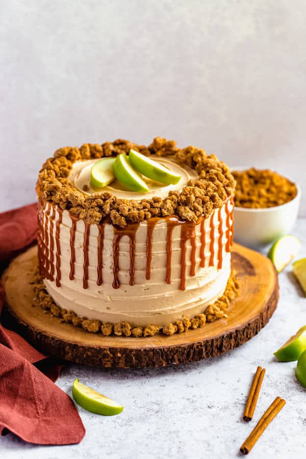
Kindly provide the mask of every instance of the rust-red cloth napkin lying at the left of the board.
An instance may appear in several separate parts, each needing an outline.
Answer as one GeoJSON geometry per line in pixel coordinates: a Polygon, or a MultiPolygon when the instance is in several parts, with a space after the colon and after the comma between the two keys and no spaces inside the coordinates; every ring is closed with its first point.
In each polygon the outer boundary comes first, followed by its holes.
{"type": "MultiPolygon", "coordinates": [[[[34,243],[37,205],[0,214],[0,266],[34,243]]],[[[0,284],[0,314],[5,291],[0,284]]],[[[39,445],[79,443],[85,428],[71,398],[54,384],[62,365],[0,323],[0,432],[39,445]]]]}

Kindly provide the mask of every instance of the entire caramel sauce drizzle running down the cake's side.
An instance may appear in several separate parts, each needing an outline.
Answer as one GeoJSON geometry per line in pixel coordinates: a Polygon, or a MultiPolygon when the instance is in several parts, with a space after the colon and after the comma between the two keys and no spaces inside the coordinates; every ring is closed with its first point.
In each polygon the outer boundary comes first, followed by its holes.
{"type": "MultiPolygon", "coordinates": [[[[230,251],[233,245],[233,209],[230,210],[230,206],[234,206],[233,197],[226,200],[224,209],[226,213],[226,244],[225,250],[230,251]],[[232,222],[231,222],[232,218],[232,222]],[[231,226],[230,226],[231,223],[231,226]]],[[[223,222],[222,222],[222,208],[218,210],[218,269],[222,268],[223,258],[223,222]]],[[[56,241],[56,285],[61,285],[61,246],[60,246],[60,225],[62,223],[63,211],[57,207],[59,218],[56,221],[56,231],[54,236],[54,220],[56,217],[56,208],[52,205],[46,206],[46,203],[39,203],[38,208],[38,257],[39,257],[39,269],[40,275],[44,278],[54,281],[55,266],[54,266],[54,239],[56,241]],[[43,221],[43,211],[45,211],[45,217],[43,221]],[[52,211],[52,214],[51,214],[52,211]],[[49,225],[48,225],[49,223],[49,225]],[[49,226],[49,227],[48,227],[49,226]],[[50,243],[50,246],[49,246],[50,243]]],[[[75,233],[77,228],[78,216],[69,213],[71,219],[70,227],[70,272],[69,279],[72,281],[75,274],[75,233]]],[[[147,220],[147,236],[146,236],[146,279],[149,280],[151,277],[151,259],[152,259],[152,236],[154,228],[161,217],[153,217],[147,220]]],[[[186,254],[187,254],[187,241],[191,241],[191,254],[190,254],[190,275],[195,275],[196,267],[196,225],[200,224],[200,267],[205,267],[205,247],[206,247],[206,228],[205,219],[200,217],[197,222],[190,222],[181,220],[177,216],[164,217],[167,224],[167,263],[166,263],[166,282],[171,283],[171,264],[172,264],[172,234],[173,229],[177,225],[181,225],[181,290],[186,289],[186,254]]],[[[104,247],[104,230],[105,220],[102,223],[97,224],[98,227],[98,246],[97,246],[97,285],[103,284],[103,247],[104,247]]],[[[88,267],[89,267],[89,235],[90,235],[90,224],[84,221],[84,239],[83,239],[83,288],[88,288],[88,267]]],[[[215,222],[214,213],[210,217],[210,259],[209,266],[214,266],[215,256],[215,222]]],[[[131,223],[125,228],[117,226],[113,227],[113,288],[118,289],[120,287],[119,282],[119,242],[123,236],[127,236],[130,239],[130,285],[133,286],[135,283],[135,256],[136,256],[136,232],[138,230],[139,223],[131,223]]]]}

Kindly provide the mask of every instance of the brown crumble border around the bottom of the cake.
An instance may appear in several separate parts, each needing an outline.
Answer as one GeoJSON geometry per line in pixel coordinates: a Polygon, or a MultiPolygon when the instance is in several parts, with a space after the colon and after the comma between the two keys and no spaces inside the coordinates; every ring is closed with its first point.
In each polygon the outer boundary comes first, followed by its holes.
{"type": "Polygon", "coordinates": [[[82,327],[90,333],[99,333],[104,336],[121,336],[121,337],[148,337],[157,334],[174,335],[180,334],[190,329],[196,329],[204,326],[206,323],[214,322],[217,319],[226,318],[227,308],[230,302],[239,296],[239,281],[232,270],[228,278],[224,293],[213,304],[208,305],[202,314],[197,314],[191,319],[184,317],[162,327],[159,325],[146,325],[132,327],[129,322],[101,322],[97,319],[88,319],[75,314],[72,310],[67,311],[60,308],[52,296],[45,288],[42,278],[37,270],[33,279],[33,289],[35,297],[33,298],[33,307],[41,307],[45,312],[50,312],[52,316],[58,317],[62,322],[70,323],[73,326],[82,327]]]}

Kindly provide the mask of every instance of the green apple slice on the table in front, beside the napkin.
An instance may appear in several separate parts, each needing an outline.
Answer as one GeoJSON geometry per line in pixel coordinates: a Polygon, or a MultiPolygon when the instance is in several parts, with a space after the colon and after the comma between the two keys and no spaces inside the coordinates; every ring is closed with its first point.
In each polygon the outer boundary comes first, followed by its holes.
{"type": "Polygon", "coordinates": [[[104,416],[113,416],[123,411],[123,406],[114,402],[105,395],[99,394],[95,390],[82,384],[79,378],[74,379],[72,386],[72,395],[74,400],[84,408],[104,416]]]}

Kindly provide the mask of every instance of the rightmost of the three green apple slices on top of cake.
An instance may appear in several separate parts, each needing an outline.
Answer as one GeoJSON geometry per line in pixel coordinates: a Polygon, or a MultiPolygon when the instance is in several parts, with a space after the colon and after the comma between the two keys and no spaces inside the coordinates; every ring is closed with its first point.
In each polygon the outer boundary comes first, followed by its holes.
{"type": "Polygon", "coordinates": [[[181,175],[173,174],[157,161],[151,160],[133,149],[130,150],[129,160],[138,172],[156,182],[161,182],[165,185],[175,185],[181,180],[181,175]]]}

